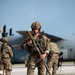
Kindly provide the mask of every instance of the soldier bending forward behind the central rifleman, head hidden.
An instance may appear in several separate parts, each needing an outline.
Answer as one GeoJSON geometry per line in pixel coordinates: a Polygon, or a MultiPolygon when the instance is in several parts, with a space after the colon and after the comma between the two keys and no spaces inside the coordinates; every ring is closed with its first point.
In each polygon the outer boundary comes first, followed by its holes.
{"type": "MultiPolygon", "coordinates": [[[[56,75],[60,50],[56,43],[51,42],[49,44],[50,44],[50,53],[47,58],[47,65],[50,71],[52,69],[52,75],[56,75]]],[[[46,75],[49,75],[48,72],[46,72],[46,75]]]]}

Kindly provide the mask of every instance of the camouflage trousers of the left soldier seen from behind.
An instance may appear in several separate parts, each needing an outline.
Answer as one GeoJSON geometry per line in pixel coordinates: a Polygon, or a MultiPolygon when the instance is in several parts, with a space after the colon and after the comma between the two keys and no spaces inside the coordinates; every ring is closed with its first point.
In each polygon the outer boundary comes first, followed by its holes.
{"type": "Polygon", "coordinates": [[[1,70],[3,72],[3,74],[0,75],[4,75],[4,70],[6,75],[11,75],[11,71],[12,71],[12,65],[10,62],[10,59],[2,59],[4,63],[2,63],[1,66],[1,70]]]}

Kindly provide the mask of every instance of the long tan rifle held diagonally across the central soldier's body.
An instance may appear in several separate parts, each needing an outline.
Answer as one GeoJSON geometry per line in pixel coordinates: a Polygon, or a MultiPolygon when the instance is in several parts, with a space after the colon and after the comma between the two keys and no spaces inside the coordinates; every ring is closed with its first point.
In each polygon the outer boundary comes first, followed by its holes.
{"type": "MultiPolygon", "coordinates": [[[[30,37],[30,39],[32,40],[32,42],[33,42],[33,44],[34,44],[35,49],[36,49],[36,50],[37,50],[37,52],[39,53],[39,56],[41,56],[41,52],[40,52],[40,50],[39,50],[39,49],[41,49],[41,48],[40,48],[40,46],[39,46],[39,48],[37,47],[37,43],[35,42],[35,40],[34,40],[34,38],[33,38],[32,34],[31,34],[31,32],[30,32],[30,31],[27,31],[27,35],[28,35],[28,37],[30,37]]],[[[43,61],[43,62],[44,62],[44,60],[43,60],[43,59],[41,59],[41,61],[43,61]]],[[[44,65],[45,65],[46,70],[48,71],[49,75],[51,75],[51,74],[50,74],[50,71],[49,71],[49,68],[48,68],[48,66],[47,66],[47,64],[46,64],[46,62],[44,62],[44,65]]]]}

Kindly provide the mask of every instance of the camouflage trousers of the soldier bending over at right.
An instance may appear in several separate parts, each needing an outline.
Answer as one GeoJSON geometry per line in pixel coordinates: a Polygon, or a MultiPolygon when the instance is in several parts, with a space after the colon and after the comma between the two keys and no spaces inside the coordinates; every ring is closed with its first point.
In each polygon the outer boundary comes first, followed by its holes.
{"type": "MultiPolygon", "coordinates": [[[[48,57],[47,59],[47,65],[49,67],[49,70],[51,72],[52,69],[52,75],[56,75],[56,71],[58,68],[58,55],[53,55],[51,57],[48,57]]],[[[49,75],[48,72],[46,71],[46,75],[49,75]]]]}

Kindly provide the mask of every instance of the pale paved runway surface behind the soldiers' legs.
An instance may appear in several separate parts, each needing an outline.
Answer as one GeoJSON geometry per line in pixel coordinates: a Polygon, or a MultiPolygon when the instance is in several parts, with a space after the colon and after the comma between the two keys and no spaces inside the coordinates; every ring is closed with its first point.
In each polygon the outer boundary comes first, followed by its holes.
{"type": "MultiPolygon", "coordinates": [[[[12,65],[12,75],[26,75],[27,73],[27,68],[25,67],[24,64],[18,64],[18,65],[12,65]]],[[[75,66],[73,65],[63,65],[57,70],[57,74],[60,75],[75,75],[75,66]]],[[[35,69],[34,75],[37,74],[37,68],[35,69]]]]}

